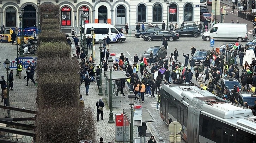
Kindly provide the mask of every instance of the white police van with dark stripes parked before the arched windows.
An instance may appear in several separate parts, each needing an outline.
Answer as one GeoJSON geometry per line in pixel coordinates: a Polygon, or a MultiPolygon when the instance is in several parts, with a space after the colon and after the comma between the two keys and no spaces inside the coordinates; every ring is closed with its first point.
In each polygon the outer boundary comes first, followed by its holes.
{"type": "MultiPolygon", "coordinates": [[[[84,24],[83,24],[84,30],[84,24]]],[[[110,42],[122,43],[126,40],[126,36],[123,33],[118,32],[118,30],[111,24],[106,23],[87,23],[85,24],[86,33],[85,36],[91,36],[91,28],[94,28],[95,41],[103,39],[104,37],[109,36],[111,39],[110,42]]],[[[82,32],[84,33],[84,32],[82,32]]],[[[83,34],[84,38],[84,34],[83,34]]]]}

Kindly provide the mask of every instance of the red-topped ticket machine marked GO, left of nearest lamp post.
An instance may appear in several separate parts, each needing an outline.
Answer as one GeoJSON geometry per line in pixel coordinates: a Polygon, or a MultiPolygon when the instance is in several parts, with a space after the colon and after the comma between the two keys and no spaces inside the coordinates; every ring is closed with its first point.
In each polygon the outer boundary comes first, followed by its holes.
{"type": "Polygon", "coordinates": [[[116,114],[116,141],[123,142],[123,114],[116,114]]]}

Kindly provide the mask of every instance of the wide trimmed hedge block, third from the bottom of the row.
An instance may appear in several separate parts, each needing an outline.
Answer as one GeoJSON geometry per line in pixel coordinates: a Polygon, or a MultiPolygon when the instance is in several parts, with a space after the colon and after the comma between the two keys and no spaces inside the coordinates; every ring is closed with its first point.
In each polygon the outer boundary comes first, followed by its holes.
{"type": "Polygon", "coordinates": [[[77,74],[79,71],[79,62],[72,57],[51,57],[40,58],[37,60],[37,75],[43,74],[62,74],[63,71],[77,74]]]}

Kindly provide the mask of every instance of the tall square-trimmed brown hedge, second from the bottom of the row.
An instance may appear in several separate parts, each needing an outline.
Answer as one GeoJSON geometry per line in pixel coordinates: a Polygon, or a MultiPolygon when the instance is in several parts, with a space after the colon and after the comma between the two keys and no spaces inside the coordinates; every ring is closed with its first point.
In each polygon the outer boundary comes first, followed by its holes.
{"type": "Polygon", "coordinates": [[[41,74],[40,78],[37,79],[39,109],[42,110],[46,107],[78,107],[79,78],[77,73],[68,72],[65,67],[63,67],[62,73],[41,74]]]}

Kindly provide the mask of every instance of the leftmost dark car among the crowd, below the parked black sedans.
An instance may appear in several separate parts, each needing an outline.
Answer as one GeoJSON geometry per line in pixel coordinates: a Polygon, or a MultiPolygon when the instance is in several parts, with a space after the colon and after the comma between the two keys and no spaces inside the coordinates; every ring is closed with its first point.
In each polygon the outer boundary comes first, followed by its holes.
{"type": "Polygon", "coordinates": [[[162,59],[167,56],[167,50],[164,48],[164,46],[154,46],[148,48],[142,56],[146,57],[147,61],[149,61],[150,58],[150,51],[153,53],[153,60],[157,62],[159,58],[161,57],[162,59]]]}

